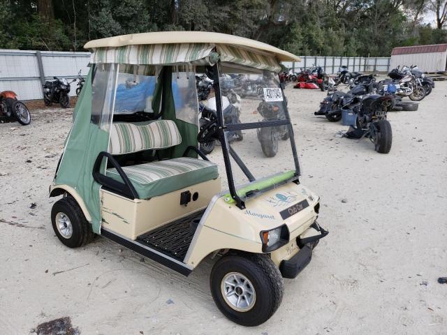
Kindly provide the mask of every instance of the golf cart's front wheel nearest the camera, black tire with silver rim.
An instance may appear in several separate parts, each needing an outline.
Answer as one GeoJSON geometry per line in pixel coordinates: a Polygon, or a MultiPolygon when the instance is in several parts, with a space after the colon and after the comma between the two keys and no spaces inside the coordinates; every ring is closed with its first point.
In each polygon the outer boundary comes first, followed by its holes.
{"type": "Polygon", "coordinates": [[[243,326],[267,321],[281,304],[284,281],[274,262],[263,254],[230,254],[216,262],[211,293],[226,318],[243,326]]]}

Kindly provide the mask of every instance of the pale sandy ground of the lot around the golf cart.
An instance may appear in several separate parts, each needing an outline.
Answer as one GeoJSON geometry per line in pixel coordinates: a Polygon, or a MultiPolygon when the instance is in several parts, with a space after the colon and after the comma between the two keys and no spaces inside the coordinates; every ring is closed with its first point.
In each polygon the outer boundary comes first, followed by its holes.
{"type": "Polygon", "coordinates": [[[33,111],[30,126],[0,124],[0,334],[63,317],[71,334],[447,334],[447,285],[437,283],[447,276],[447,82],[418,112],[389,114],[388,155],[335,137],[346,127],[314,117],[323,92],[287,93],[301,182],[321,195],[319,222],[330,234],[286,279],[268,322],[244,328],[221,315],[212,260],[185,278],[105,239],[63,246],[48,186],[71,110],[54,109],[33,111]]]}

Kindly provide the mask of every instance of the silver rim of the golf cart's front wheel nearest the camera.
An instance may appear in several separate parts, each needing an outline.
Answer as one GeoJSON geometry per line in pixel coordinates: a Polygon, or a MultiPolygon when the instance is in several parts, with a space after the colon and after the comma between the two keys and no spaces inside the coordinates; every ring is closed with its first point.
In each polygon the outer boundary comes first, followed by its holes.
{"type": "Polygon", "coordinates": [[[223,277],[221,293],[228,306],[238,312],[251,310],[256,302],[253,284],[239,272],[230,272],[223,277]]]}

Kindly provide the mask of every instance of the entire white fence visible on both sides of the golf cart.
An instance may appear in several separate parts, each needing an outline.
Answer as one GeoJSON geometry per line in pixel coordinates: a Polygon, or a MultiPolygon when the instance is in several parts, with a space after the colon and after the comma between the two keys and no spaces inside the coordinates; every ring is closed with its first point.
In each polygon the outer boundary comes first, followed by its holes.
{"type": "MultiPolygon", "coordinates": [[[[339,66],[348,66],[350,71],[388,72],[390,58],[367,57],[318,57],[301,56],[300,62],[284,62],[284,66],[298,72],[313,64],[322,66],[326,73],[337,73],[339,66]]],[[[42,83],[53,76],[71,80],[87,75],[89,52],[49,52],[0,50],[0,91],[15,91],[22,100],[41,99],[42,83]]],[[[71,84],[70,94],[75,95],[76,82],[71,84]]]]}

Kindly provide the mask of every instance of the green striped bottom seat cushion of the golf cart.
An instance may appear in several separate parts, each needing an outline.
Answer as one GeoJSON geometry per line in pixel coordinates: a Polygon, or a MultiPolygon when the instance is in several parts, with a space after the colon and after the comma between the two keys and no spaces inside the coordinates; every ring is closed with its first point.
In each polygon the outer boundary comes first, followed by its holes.
{"type": "MultiPolygon", "coordinates": [[[[122,169],[140,199],[149,199],[219,177],[216,164],[190,157],[125,166],[122,169]]],[[[106,175],[123,182],[115,168],[108,169],[106,175]]]]}

